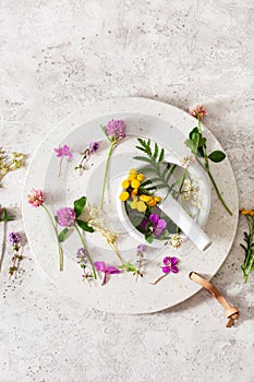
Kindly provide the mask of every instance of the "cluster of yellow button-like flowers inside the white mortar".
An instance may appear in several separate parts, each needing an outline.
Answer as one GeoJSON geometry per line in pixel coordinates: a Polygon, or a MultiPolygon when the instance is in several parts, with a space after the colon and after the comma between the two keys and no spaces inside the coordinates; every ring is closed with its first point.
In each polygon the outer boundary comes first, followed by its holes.
{"type": "Polygon", "coordinates": [[[161,201],[160,196],[140,194],[138,189],[144,179],[144,174],[137,174],[135,169],[131,169],[129,171],[129,177],[122,181],[124,191],[119,195],[122,202],[132,199],[131,208],[140,212],[145,212],[147,207],[154,207],[161,201]]]}

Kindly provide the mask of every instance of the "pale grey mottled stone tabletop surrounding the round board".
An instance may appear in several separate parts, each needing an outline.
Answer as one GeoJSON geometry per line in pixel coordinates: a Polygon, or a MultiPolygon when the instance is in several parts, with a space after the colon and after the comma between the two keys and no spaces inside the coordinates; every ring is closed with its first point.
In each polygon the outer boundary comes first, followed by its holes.
{"type": "MultiPolygon", "coordinates": [[[[29,153],[61,119],[112,96],[208,107],[206,126],[229,155],[240,204],[253,206],[254,3],[252,0],[2,0],[0,145],[29,153]]],[[[0,203],[21,231],[25,170],[5,177],[0,203]]],[[[230,192],[230,190],[229,190],[230,192]]],[[[226,330],[206,291],[164,313],[85,311],[27,259],[1,274],[0,380],[120,382],[254,379],[254,275],[243,285],[239,248],[214,278],[241,310],[226,330]]],[[[1,235],[1,234],[0,234],[1,235]]],[[[9,258],[8,258],[9,256],[9,258]]]]}

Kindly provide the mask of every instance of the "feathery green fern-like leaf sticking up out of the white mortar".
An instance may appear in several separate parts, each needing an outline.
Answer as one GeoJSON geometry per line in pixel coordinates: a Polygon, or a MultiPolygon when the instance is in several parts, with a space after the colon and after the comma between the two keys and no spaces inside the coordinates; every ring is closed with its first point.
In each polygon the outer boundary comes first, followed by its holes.
{"type": "Polygon", "coordinates": [[[143,152],[145,156],[134,156],[133,159],[146,164],[146,166],[142,168],[143,172],[152,172],[155,175],[154,178],[147,179],[145,182],[143,182],[142,187],[147,191],[155,189],[167,189],[167,195],[165,198],[167,199],[169,193],[173,190],[174,186],[179,182],[177,180],[172,184],[169,184],[169,180],[173,175],[177,165],[173,165],[171,167],[170,164],[166,165],[164,163],[165,150],[160,150],[156,142],[154,144],[154,148],[152,148],[150,140],[145,141],[138,138],[137,141],[140,143],[140,146],[136,146],[136,148],[143,152]]]}

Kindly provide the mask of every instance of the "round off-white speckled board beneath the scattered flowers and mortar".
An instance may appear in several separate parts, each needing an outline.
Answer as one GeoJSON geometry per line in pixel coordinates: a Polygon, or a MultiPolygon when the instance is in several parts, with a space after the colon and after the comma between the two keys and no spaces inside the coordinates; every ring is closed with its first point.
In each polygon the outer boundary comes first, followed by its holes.
{"type": "MultiPolygon", "coordinates": [[[[99,284],[89,287],[82,282],[81,270],[74,261],[77,241],[72,235],[64,243],[64,267],[60,273],[56,240],[50,225],[44,211],[32,208],[27,204],[26,195],[32,188],[44,189],[46,204],[52,213],[56,213],[60,206],[71,206],[73,200],[83,194],[87,195],[89,202],[98,202],[95,184],[96,188],[101,188],[100,175],[108,146],[99,126],[106,124],[111,118],[123,119],[126,122],[129,136],[113,153],[117,160],[112,160],[110,166],[109,176],[112,181],[107,190],[105,210],[110,226],[120,234],[119,246],[122,256],[125,260],[135,260],[137,242],[131,236],[124,236],[124,232],[122,237],[125,238],[121,239],[122,228],[114,214],[117,208],[112,203],[110,204],[110,188],[114,190],[128,168],[134,167],[131,156],[128,155],[128,160],[125,158],[129,144],[132,144],[135,136],[153,138],[158,144],[168,147],[176,157],[190,155],[184,140],[195,126],[195,119],[167,104],[145,98],[109,99],[87,106],[59,123],[38,147],[27,172],[23,195],[25,229],[32,250],[44,271],[62,293],[81,301],[84,307],[130,314],[155,312],[188,299],[201,288],[190,280],[191,271],[205,274],[210,279],[221,266],[232,246],[238,224],[237,184],[228,159],[221,165],[211,167],[219,189],[233,211],[233,216],[226,213],[213,191],[209,218],[205,226],[205,231],[211,238],[213,244],[205,252],[198,252],[190,241],[186,241],[178,252],[149,248],[146,251],[144,278],[136,280],[131,274],[123,273],[112,275],[102,287],[99,284]],[[85,172],[80,177],[74,171],[74,165],[78,160],[78,153],[92,141],[100,141],[100,152],[90,162],[87,176],[85,172]],[[59,162],[53,153],[53,147],[59,144],[70,145],[74,154],[72,163],[64,162],[61,178],[58,178],[59,162]],[[119,171],[119,163],[122,163],[121,171],[119,171]],[[167,254],[177,255],[180,259],[180,272],[177,275],[168,275],[154,286],[149,283],[161,274],[158,265],[167,254]]],[[[215,136],[204,126],[203,128],[208,138],[208,148],[221,148],[215,136]]],[[[118,264],[113,252],[97,234],[86,235],[86,241],[94,260],[118,264]]]]}

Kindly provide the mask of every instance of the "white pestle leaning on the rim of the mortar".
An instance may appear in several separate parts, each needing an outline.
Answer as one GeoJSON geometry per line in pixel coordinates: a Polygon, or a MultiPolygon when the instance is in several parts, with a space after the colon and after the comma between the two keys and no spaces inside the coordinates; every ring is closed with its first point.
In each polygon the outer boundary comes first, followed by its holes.
{"type": "Polygon", "coordinates": [[[168,195],[165,202],[160,203],[159,207],[179,228],[181,228],[199,251],[205,251],[211,244],[209,237],[171,194],[168,195]]]}

